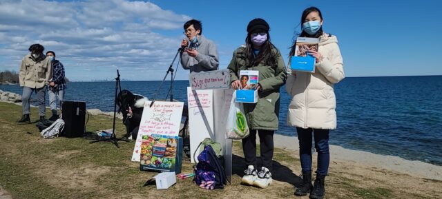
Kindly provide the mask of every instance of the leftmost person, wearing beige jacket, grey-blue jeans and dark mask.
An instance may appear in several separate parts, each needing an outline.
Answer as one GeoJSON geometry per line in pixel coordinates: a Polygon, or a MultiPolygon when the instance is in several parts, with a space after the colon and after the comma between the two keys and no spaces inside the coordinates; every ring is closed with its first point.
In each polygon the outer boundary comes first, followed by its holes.
{"type": "Polygon", "coordinates": [[[37,94],[40,121],[46,121],[46,85],[52,80],[52,66],[50,59],[44,54],[44,47],[38,43],[29,47],[30,54],[22,60],[19,72],[20,87],[23,87],[21,95],[23,116],[17,121],[18,124],[30,123],[30,96],[32,92],[37,94]]]}

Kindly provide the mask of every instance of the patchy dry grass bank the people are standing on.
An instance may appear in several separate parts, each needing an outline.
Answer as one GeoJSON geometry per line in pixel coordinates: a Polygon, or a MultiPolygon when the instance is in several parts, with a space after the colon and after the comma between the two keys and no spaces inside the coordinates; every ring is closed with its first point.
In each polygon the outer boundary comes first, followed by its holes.
{"type": "MultiPolygon", "coordinates": [[[[38,119],[32,108],[31,120],[38,119]]],[[[177,179],[167,190],[143,187],[154,172],[140,171],[131,162],[134,142],[93,143],[84,138],[40,138],[35,124],[16,125],[21,106],[0,103],[0,185],[14,198],[297,198],[294,185],[300,182],[296,151],[276,149],[273,185],[258,189],[240,185],[244,158],[240,142],[234,143],[232,183],[209,191],[191,178],[177,179]]],[[[112,117],[90,116],[88,132],[112,127],[112,117]]],[[[117,132],[124,126],[117,121],[117,132]]],[[[121,134],[120,134],[121,135],[121,134]]],[[[184,158],[183,173],[192,172],[184,158]]],[[[357,163],[332,161],[326,178],[326,198],[441,198],[442,182],[416,179],[392,171],[357,163]]]]}

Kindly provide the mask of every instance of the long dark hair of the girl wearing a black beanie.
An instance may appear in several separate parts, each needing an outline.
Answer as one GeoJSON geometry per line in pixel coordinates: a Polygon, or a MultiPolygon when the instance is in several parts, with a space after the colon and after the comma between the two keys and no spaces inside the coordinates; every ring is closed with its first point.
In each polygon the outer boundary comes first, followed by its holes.
{"type": "Polygon", "coordinates": [[[246,65],[253,66],[259,63],[264,63],[264,65],[277,65],[278,58],[276,52],[272,52],[272,48],[276,48],[270,41],[270,34],[267,31],[267,41],[262,43],[260,52],[255,56],[253,49],[253,43],[251,43],[251,34],[247,34],[246,37],[246,48],[244,50],[246,55],[246,65]]]}

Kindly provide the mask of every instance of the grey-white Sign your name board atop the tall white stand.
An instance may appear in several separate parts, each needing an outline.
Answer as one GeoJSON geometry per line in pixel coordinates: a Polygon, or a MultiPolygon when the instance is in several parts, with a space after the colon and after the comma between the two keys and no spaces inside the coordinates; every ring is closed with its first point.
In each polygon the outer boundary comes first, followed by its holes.
{"type": "Polygon", "coordinates": [[[192,89],[227,89],[230,87],[229,70],[214,70],[209,72],[192,72],[189,74],[192,89]]]}

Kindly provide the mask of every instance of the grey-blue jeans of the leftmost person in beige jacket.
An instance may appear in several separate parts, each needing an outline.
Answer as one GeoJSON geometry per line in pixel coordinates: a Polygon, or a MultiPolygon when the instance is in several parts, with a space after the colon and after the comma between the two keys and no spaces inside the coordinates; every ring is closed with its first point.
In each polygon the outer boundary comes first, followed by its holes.
{"type": "Polygon", "coordinates": [[[37,102],[39,103],[39,116],[46,114],[46,102],[44,97],[46,96],[46,86],[41,88],[23,87],[23,94],[21,95],[21,107],[24,114],[30,114],[30,96],[32,92],[37,92],[37,102]]]}

